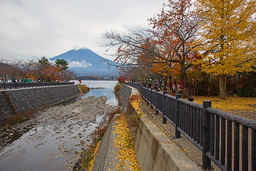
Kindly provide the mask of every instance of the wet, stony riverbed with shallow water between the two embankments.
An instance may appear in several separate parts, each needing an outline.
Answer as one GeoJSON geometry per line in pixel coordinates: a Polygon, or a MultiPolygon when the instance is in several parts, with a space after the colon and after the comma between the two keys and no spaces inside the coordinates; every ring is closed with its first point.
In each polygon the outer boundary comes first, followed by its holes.
{"type": "Polygon", "coordinates": [[[72,170],[90,133],[115,107],[106,97],[86,97],[36,113],[0,131],[0,170],[72,170]]]}

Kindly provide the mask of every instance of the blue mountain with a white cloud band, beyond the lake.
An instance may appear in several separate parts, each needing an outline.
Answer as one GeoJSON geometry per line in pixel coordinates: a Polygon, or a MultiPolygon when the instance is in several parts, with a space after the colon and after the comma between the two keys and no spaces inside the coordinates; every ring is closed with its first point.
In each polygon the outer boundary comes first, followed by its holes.
{"type": "Polygon", "coordinates": [[[69,63],[68,67],[75,70],[79,76],[91,75],[91,76],[108,76],[113,75],[113,71],[108,69],[108,65],[105,62],[110,61],[95,54],[95,52],[87,49],[80,48],[79,50],[70,50],[64,54],[60,54],[50,60],[64,59],[69,63]]]}

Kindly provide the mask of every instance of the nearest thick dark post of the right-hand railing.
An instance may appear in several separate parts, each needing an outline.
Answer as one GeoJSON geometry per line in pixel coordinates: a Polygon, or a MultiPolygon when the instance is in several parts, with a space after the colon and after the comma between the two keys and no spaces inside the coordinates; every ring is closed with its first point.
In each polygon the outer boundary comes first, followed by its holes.
{"type": "Polygon", "coordinates": [[[202,103],[202,167],[211,168],[211,160],[206,156],[210,151],[210,113],[206,108],[212,107],[212,101],[203,101],[202,103]]]}

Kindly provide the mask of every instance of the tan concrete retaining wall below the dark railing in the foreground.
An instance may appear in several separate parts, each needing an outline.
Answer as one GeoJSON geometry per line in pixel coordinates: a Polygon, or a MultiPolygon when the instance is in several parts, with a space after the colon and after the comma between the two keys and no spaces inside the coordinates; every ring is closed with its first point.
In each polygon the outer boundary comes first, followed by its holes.
{"type": "Polygon", "coordinates": [[[141,170],[201,170],[147,117],[140,117],[134,142],[141,170]]]}

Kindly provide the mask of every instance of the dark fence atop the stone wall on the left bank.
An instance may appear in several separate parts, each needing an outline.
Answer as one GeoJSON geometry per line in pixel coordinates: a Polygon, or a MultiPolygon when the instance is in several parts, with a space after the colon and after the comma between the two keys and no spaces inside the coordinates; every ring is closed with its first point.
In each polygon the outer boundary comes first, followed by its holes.
{"type": "Polygon", "coordinates": [[[1,89],[18,89],[18,88],[32,88],[32,87],[48,87],[48,86],[67,86],[74,85],[74,82],[59,83],[59,82],[37,82],[37,83],[0,83],[1,89]]]}

